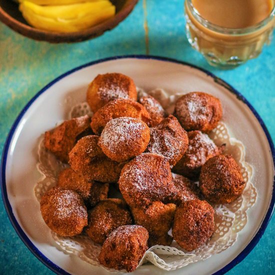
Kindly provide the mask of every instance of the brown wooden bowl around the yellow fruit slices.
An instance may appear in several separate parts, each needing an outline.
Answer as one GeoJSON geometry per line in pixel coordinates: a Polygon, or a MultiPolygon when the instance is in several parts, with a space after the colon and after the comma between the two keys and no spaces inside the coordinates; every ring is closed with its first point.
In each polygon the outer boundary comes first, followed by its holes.
{"type": "Polygon", "coordinates": [[[79,42],[94,38],[104,31],[114,28],[133,9],[138,0],[111,0],[116,7],[115,15],[88,29],[75,32],[51,32],[30,26],[18,9],[18,4],[12,0],[0,0],[0,20],[16,32],[41,41],[52,43],[79,42]]]}

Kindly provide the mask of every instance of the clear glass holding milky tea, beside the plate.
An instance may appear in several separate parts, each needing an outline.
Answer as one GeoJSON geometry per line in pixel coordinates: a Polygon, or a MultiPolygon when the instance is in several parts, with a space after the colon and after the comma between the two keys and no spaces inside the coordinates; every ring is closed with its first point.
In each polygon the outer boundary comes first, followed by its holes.
{"type": "Polygon", "coordinates": [[[240,65],[257,57],[263,45],[270,42],[275,24],[273,2],[272,5],[269,15],[260,22],[243,28],[228,28],[209,22],[199,14],[192,0],[185,0],[187,39],[210,65],[224,68],[240,65]]]}

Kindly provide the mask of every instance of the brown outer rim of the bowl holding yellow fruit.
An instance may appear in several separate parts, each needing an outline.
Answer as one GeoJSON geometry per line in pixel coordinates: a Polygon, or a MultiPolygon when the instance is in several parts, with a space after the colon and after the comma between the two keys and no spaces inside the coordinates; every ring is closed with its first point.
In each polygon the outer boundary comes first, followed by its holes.
{"type": "Polygon", "coordinates": [[[10,27],[12,30],[19,34],[22,34],[28,38],[48,41],[52,43],[61,42],[80,42],[83,40],[91,39],[103,34],[106,30],[110,30],[118,25],[123,19],[125,19],[134,8],[138,0],[126,0],[124,7],[120,9],[115,15],[102,23],[92,26],[88,29],[74,32],[51,32],[42,29],[32,27],[28,24],[22,23],[9,15],[0,6],[0,21],[10,27]]]}

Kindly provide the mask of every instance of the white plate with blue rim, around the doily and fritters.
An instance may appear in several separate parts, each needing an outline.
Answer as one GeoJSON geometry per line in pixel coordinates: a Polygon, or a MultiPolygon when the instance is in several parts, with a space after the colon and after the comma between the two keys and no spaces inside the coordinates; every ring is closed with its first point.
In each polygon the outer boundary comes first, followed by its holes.
{"type": "Polygon", "coordinates": [[[136,274],[224,273],[242,260],[257,243],[270,219],[275,194],[274,148],[259,115],[243,96],[207,71],[176,60],[152,56],[113,57],[75,68],[39,91],[24,107],[7,137],[1,162],[3,201],[12,225],[27,247],[44,264],[58,273],[104,274],[76,256],[59,251],[39,211],[33,187],[40,174],[37,140],[41,133],[66,119],[70,107],[84,101],[88,83],[98,74],[121,72],[133,78],[138,87],[161,87],[171,93],[206,91],[223,105],[224,121],[234,137],[246,147],[246,161],[253,165],[252,181],[257,189],[255,205],[248,210],[248,223],[236,243],[210,258],[174,271],[142,265],[136,274]],[[67,98],[70,100],[67,100],[67,98]]]}

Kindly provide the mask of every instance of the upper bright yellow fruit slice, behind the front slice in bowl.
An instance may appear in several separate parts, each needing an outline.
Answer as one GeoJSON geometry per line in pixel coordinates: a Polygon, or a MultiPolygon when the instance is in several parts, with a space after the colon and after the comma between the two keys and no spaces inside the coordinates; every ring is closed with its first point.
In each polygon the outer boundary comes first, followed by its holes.
{"type": "Polygon", "coordinates": [[[99,12],[106,7],[110,7],[112,4],[108,0],[100,0],[97,2],[69,5],[41,6],[27,0],[23,1],[21,5],[25,9],[30,9],[33,13],[40,16],[49,18],[76,19],[84,17],[88,14],[99,12]]]}

